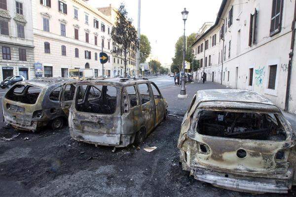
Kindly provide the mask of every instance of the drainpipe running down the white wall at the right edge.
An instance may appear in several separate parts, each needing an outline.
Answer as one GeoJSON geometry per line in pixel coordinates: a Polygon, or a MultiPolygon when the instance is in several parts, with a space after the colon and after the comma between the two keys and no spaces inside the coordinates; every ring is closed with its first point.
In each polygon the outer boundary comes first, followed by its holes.
{"type": "Polygon", "coordinates": [[[293,55],[294,55],[294,42],[295,42],[295,23],[296,23],[296,3],[295,3],[295,7],[294,7],[294,19],[293,19],[293,22],[292,22],[292,37],[291,37],[291,48],[290,48],[290,53],[289,53],[287,89],[286,89],[286,100],[285,100],[284,111],[288,111],[288,109],[289,109],[292,61],[293,61],[293,55]]]}

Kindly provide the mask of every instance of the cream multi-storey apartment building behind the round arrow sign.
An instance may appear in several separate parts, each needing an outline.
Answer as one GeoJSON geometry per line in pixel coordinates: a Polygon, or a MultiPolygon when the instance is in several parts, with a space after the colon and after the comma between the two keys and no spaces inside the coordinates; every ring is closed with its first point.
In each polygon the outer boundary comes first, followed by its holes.
{"type": "Polygon", "coordinates": [[[112,76],[109,16],[83,0],[32,0],[32,11],[36,76],[68,77],[72,68],[112,76]],[[109,56],[104,73],[102,51],[109,56]]]}

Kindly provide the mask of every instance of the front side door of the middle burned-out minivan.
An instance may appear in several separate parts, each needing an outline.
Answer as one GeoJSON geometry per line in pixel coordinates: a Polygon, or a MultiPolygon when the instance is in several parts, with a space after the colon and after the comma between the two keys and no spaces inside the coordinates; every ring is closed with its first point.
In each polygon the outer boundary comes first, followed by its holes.
{"type": "Polygon", "coordinates": [[[165,100],[163,99],[158,87],[152,82],[151,89],[153,92],[154,102],[155,102],[155,109],[156,109],[156,116],[155,116],[155,126],[158,125],[166,112],[165,107],[165,100]]]}

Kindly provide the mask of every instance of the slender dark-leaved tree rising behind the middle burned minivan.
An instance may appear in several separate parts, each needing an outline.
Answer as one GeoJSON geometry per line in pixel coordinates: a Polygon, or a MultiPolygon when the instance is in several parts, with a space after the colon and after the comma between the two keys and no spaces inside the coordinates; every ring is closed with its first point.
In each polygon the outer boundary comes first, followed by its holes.
{"type": "Polygon", "coordinates": [[[127,11],[123,3],[120,4],[116,12],[114,27],[111,31],[111,39],[113,41],[112,54],[116,56],[124,55],[124,77],[126,77],[126,65],[130,56],[128,53],[134,54],[139,49],[139,40],[137,31],[132,25],[132,19],[127,17],[127,11]]]}

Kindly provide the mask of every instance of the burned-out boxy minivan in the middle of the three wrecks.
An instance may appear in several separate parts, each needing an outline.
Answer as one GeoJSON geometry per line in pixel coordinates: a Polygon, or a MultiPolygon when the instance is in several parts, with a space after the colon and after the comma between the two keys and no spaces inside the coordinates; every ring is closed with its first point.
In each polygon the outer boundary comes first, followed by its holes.
{"type": "MultiPolygon", "coordinates": [[[[166,100],[147,79],[110,78],[75,85],[73,103],[61,97],[75,140],[114,147],[140,144],[167,117],[166,100]]],[[[63,89],[72,86],[65,84],[63,89]]]]}

